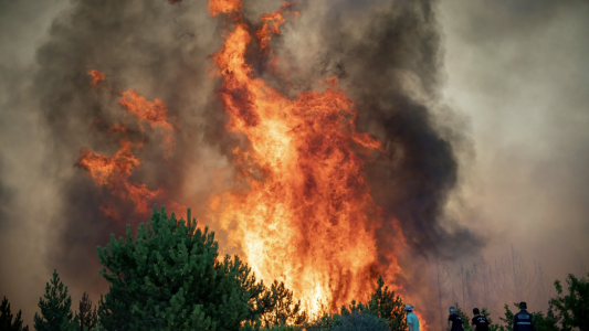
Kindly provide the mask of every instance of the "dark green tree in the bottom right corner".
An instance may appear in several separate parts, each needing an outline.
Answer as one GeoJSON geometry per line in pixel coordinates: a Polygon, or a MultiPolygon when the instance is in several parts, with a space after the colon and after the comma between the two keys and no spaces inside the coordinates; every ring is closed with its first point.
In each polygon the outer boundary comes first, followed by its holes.
{"type": "MultiPolygon", "coordinates": [[[[589,276],[589,275],[588,275],[589,276]]],[[[589,330],[589,281],[587,278],[577,279],[568,275],[568,295],[562,295],[562,285],[555,281],[558,296],[550,300],[560,319],[564,331],[579,328],[580,331],[589,330]]]]}

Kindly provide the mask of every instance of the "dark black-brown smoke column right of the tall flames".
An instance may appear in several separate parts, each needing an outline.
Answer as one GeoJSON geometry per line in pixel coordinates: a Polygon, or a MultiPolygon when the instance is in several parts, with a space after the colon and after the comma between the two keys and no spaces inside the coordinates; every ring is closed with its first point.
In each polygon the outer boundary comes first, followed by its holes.
{"type": "Polygon", "coordinates": [[[400,260],[403,273],[396,281],[430,321],[437,312],[429,305],[433,298],[428,261],[475,255],[484,244],[445,214],[460,183],[457,157],[461,149],[472,147],[460,131],[463,119],[441,98],[443,50],[437,6],[437,1],[338,3],[322,12],[322,19],[315,18],[320,24],[313,26],[322,44],[314,67],[340,77],[358,107],[359,128],[386,147],[366,167],[386,220],[378,246],[381,253],[390,249],[389,234],[397,232],[392,220],[398,220],[409,252],[400,260]]]}

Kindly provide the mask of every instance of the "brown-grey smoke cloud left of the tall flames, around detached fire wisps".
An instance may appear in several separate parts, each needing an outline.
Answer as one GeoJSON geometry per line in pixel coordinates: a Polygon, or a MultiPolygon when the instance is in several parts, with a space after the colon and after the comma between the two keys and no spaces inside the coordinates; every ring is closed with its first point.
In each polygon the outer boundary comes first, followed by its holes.
{"type": "MultiPolygon", "coordinates": [[[[148,220],[148,214],[134,215],[129,205],[122,212],[124,221],[105,217],[98,207],[111,193],[73,167],[82,147],[106,156],[118,149],[122,137],[106,132],[122,120],[116,89],[136,88],[148,99],[162,99],[180,124],[181,134],[168,161],[162,161],[160,136],[140,134],[130,125],[135,134],[125,137],[144,145],[138,158],[145,161],[130,180],[150,190],[165,189],[168,197],[199,207],[199,201],[181,201],[186,196],[181,180],[189,177],[186,172],[194,168],[192,163],[207,163],[200,161],[202,151],[197,146],[208,126],[202,113],[212,87],[207,83],[206,55],[215,46],[215,23],[200,2],[78,1],[55,19],[50,41],[39,49],[33,90],[49,130],[44,172],[62,179],[57,185],[61,206],[50,221],[59,231],[46,260],[77,291],[88,290],[95,299],[104,292],[96,246],[104,246],[111,233],[123,235],[126,223],[136,228],[138,222],[148,220]],[[91,89],[90,70],[105,73],[99,86],[113,90],[91,89]]],[[[202,174],[192,179],[198,182],[202,174]]]]}

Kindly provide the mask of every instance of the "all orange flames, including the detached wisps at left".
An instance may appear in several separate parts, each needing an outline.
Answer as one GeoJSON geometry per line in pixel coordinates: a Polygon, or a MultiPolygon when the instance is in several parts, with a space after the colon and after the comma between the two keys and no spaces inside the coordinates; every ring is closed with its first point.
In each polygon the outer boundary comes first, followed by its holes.
{"type": "MultiPolygon", "coordinates": [[[[230,244],[241,248],[259,278],[266,284],[284,281],[311,316],[324,307],[333,312],[353,299],[365,301],[379,275],[389,288],[402,291],[391,282],[401,273],[397,258],[407,244],[397,220],[390,220],[393,233],[378,233],[383,220],[365,174],[365,159],[381,151],[381,143],[357,130],[357,109],[336,77],[296,98],[255,77],[245,61],[252,30],[241,8],[241,0],[208,1],[211,15],[228,14],[232,23],[211,60],[215,77],[222,78],[219,97],[229,117],[225,128],[246,142],[233,149],[232,189],[210,196],[207,216],[229,232],[230,244]],[[377,250],[377,235],[386,249],[377,250]]],[[[277,70],[277,57],[270,43],[291,17],[297,13],[284,3],[262,15],[254,33],[272,71],[277,70]]],[[[119,94],[123,110],[137,119],[141,132],[161,134],[166,158],[173,147],[175,126],[164,102],[148,100],[136,90],[119,94]]],[[[127,122],[115,125],[109,134],[124,136],[128,128],[127,122]]],[[[156,199],[168,210],[182,210],[165,199],[162,189],[150,191],[129,181],[141,164],[134,151],[143,146],[126,139],[119,143],[111,157],[83,149],[76,166],[113,196],[132,202],[138,213],[147,213],[156,199]]],[[[112,218],[120,217],[112,205],[101,209],[112,218]]]]}

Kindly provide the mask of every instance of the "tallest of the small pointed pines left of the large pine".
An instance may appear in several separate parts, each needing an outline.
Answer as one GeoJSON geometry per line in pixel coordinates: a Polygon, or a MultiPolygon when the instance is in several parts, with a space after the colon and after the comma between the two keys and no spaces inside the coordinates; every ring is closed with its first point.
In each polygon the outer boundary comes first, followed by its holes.
{"type": "Polygon", "coordinates": [[[62,331],[75,328],[71,307],[72,298],[67,295],[67,287],[60,280],[56,270],[53,278],[45,286],[45,295],[39,299],[41,314],[34,314],[34,329],[36,331],[62,331]]]}

